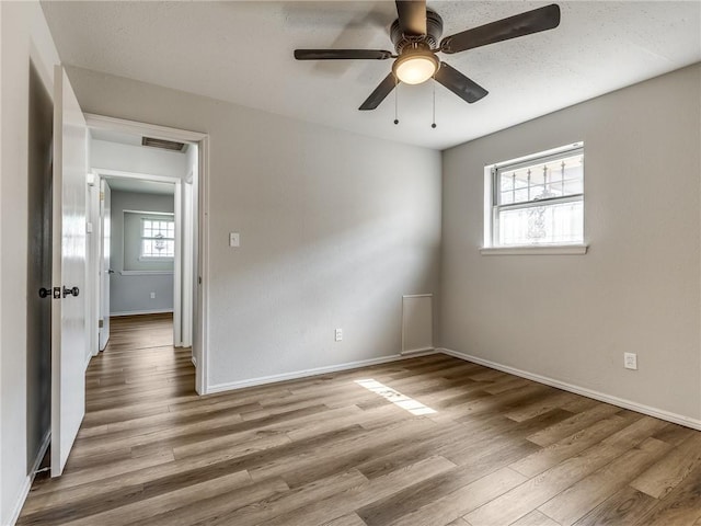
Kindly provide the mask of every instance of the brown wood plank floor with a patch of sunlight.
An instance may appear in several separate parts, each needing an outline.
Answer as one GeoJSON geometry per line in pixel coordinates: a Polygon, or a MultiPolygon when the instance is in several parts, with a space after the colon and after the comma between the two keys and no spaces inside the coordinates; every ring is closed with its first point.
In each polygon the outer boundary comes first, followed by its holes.
{"type": "Polygon", "coordinates": [[[701,524],[701,433],[445,355],[200,398],[170,317],[119,318],[19,524],[701,524]]]}

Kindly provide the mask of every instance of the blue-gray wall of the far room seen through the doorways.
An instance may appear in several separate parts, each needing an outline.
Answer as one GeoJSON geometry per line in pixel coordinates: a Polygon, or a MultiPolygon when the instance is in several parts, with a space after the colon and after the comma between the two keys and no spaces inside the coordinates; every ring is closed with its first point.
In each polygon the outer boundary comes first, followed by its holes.
{"type": "MultiPolygon", "coordinates": [[[[173,274],[124,275],[124,210],[173,211],[172,195],[139,194],[112,191],[112,242],[110,263],[114,274],[110,279],[110,312],[112,315],[162,312],[173,309],[173,274]],[[150,294],[156,293],[151,299],[150,294]]],[[[137,232],[138,233],[138,232],[137,232]]],[[[129,236],[127,236],[127,242],[129,236]]],[[[137,241],[138,242],[138,241],[137,241]]],[[[142,263],[143,266],[146,263],[142,263]]],[[[163,271],[172,263],[154,263],[153,270],[163,271]]]]}

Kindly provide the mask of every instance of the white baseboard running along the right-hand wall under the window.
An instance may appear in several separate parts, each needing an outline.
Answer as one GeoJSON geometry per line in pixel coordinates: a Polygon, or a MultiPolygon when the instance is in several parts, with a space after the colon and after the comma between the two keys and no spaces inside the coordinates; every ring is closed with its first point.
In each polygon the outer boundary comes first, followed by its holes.
{"type": "Polygon", "coordinates": [[[650,416],[665,420],[667,422],[673,422],[675,424],[683,425],[686,427],[691,427],[692,430],[701,431],[701,420],[692,419],[690,416],[685,416],[682,414],[673,413],[670,411],[665,411],[663,409],[652,408],[650,405],[644,405],[642,403],[637,403],[632,400],[625,400],[623,398],[613,397],[611,395],[587,389],[585,387],[574,386],[565,381],[555,380],[547,376],[541,376],[535,373],[529,373],[527,370],[509,367],[508,365],[497,364],[496,362],[479,358],[476,356],[470,356],[469,354],[459,353],[458,351],[452,351],[450,348],[440,347],[440,348],[437,348],[436,351],[443,354],[447,354],[449,356],[455,356],[456,358],[464,359],[466,362],[472,362],[474,364],[484,365],[485,367],[490,367],[492,369],[503,370],[504,373],[508,373],[515,376],[520,376],[521,378],[527,378],[529,380],[533,380],[539,384],[544,384],[547,386],[556,387],[558,389],[562,389],[564,391],[574,392],[575,395],[582,395],[583,397],[593,398],[601,402],[610,403],[611,405],[617,405],[623,409],[630,409],[631,411],[647,414],[650,416]]]}

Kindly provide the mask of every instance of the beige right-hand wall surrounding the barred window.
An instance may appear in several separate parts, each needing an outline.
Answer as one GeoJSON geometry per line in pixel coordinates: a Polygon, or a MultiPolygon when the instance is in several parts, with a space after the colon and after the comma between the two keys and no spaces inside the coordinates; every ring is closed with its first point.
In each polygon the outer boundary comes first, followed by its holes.
{"type": "Polygon", "coordinates": [[[700,101],[697,65],[445,151],[441,346],[700,425],[700,101]],[[589,252],[480,255],[484,167],[578,140],[589,252]]]}

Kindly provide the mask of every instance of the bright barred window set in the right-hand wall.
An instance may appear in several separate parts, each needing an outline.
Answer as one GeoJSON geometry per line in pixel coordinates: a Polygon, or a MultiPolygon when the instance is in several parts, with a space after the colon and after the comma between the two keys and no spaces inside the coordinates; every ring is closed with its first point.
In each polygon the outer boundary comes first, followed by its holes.
{"type": "MultiPolygon", "coordinates": [[[[489,169],[485,245],[495,248],[584,242],[582,144],[497,163],[489,169]]],[[[485,172],[486,170],[485,169],[485,172]]]]}

